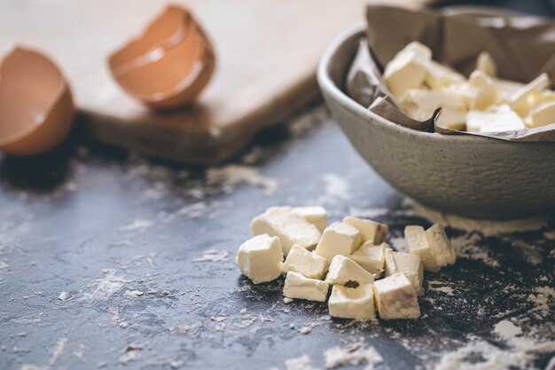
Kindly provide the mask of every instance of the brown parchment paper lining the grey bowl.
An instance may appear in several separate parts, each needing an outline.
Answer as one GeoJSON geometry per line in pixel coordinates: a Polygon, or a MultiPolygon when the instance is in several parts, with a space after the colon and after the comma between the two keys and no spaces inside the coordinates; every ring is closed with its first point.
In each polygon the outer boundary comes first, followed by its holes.
{"type": "Polygon", "coordinates": [[[461,13],[388,5],[368,5],[366,19],[367,40],[361,41],[346,80],[349,97],[361,105],[413,130],[555,142],[555,123],[535,129],[475,133],[437,126],[438,110],[425,122],[415,121],[403,114],[380,73],[407,43],[418,41],[432,50],[435,60],[466,76],[473,71],[478,54],[485,50],[496,61],[500,78],[528,83],[545,72],[553,83],[555,21],[501,12],[461,13]]]}

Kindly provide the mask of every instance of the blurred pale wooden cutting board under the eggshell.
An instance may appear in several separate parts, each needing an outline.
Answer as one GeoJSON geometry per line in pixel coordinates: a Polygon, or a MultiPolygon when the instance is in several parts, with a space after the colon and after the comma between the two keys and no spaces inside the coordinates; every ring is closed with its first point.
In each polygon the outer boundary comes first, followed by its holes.
{"type": "Polygon", "coordinates": [[[91,137],[207,165],[238,151],[318,97],[315,71],[343,29],[363,23],[367,0],[177,0],[215,44],[212,82],[192,107],[153,113],[111,78],[107,55],[139,35],[165,4],[152,0],[3,0],[0,45],[49,54],[66,74],[91,137]]]}

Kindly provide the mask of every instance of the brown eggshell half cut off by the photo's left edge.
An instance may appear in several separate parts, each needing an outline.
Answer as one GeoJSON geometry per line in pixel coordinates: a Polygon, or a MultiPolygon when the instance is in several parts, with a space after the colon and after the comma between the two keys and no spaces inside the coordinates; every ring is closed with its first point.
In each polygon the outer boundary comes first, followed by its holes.
{"type": "Polygon", "coordinates": [[[59,68],[38,51],[16,47],[0,65],[0,151],[42,154],[74,122],[74,101],[59,68]]]}

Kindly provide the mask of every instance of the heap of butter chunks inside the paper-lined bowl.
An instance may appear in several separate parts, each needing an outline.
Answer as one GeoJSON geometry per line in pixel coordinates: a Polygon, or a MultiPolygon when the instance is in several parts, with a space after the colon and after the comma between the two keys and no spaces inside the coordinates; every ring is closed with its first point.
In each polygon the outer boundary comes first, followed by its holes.
{"type": "Polygon", "coordinates": [[[383,78],[410,118],[426,121],[441,107],[437,124],[445,129],[500,132],[555,123],[548,75],[523,84],[497,78],[496,70],[488,51],[482,51],[466,79],[434,61],[426,45],[413,42],[387,64],[383,78]]]}

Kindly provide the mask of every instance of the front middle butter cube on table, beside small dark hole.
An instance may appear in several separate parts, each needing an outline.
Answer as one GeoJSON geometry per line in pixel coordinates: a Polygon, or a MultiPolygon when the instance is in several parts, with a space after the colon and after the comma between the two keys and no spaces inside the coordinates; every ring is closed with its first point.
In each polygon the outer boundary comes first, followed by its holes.
{"type": "Polygon", "coordinates": [[[358,287],[334,285],[328,301],[330,316],[342,319],[376,319],[371,284],[358,287]]]}

